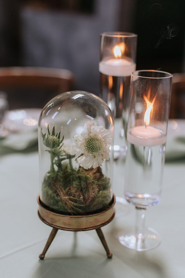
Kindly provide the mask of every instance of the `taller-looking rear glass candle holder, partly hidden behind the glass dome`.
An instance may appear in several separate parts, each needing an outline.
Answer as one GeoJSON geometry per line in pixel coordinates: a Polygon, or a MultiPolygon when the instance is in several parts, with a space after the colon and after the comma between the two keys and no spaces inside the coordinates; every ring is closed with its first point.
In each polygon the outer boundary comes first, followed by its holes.
{"type": "Polygon", "coordinates": [[[137,35],[101,34],[100,97],[109,105],[115,122],[114,156],[126,154],[130,75],[136,69],[137,35]]]}

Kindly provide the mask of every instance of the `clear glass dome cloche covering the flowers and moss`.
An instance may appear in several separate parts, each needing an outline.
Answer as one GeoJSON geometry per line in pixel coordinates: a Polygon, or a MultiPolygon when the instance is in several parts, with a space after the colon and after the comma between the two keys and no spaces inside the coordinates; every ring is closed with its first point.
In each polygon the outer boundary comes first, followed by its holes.
{"type": "Polygon", "coordinates": [[[56,96],[39,118],[40,200],[67,215],[97,213],[113,194],[113,115],[84,91],[56,96]]]}

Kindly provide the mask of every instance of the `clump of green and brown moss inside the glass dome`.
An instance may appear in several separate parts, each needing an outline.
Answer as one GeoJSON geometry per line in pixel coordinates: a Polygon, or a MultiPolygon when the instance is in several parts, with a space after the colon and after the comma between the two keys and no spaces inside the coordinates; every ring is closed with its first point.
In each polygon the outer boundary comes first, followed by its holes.
{"type": "Polygon", "coordinates": [[[110,202],[110,180],[101,168],[71,170],[64,162],[62,170],[47,173],[42,184],[42,201],[51,210],[80,215],[107,208],[110,202]]]}

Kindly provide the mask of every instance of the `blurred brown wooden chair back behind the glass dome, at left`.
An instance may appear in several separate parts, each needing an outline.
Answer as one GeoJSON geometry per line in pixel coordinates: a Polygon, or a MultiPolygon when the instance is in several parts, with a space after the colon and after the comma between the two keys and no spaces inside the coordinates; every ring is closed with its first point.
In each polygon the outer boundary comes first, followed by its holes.
{"type": "Polygon", "coordinates": [[[72,90],[69,70],[40,67],[0,68],[0,91],[7,93],[9,108],[42,108],[54,96],[72,90]]]}

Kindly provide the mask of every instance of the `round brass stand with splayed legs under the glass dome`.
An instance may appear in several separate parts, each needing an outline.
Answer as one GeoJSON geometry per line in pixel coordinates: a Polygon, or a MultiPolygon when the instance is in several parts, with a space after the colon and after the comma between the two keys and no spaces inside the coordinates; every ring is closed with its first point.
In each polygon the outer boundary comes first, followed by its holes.
{"type": "Polygon", "coordinates": [[[55,235],[58,230],[66,230],[66,231],[88,231],[88,230],[96,230],[98,237],[103,244],[107,257],[112,258],[112,253],[109,251],[109,247],[105,241],[104,235],[101,231],[101,227],[107,225],[114,218],[114,204],[115,204],[115,196],[113,195],[113,200],[111,206],[100,212],[90,215],[79,215],[79,216],[69,216],[63,215],[59,213],[53,213],[50,210],[43,207],[40,202],[40,198],[38,196],[38,215],[39,218],[47,225],[53,227],[51,234],[46,242],[43,252],[39,255],[41,260],[44,259],[44,256],[47,252],[47,249],[51,245],[51,242],[55,238],[55,235]]]}

